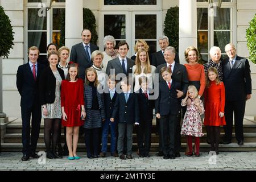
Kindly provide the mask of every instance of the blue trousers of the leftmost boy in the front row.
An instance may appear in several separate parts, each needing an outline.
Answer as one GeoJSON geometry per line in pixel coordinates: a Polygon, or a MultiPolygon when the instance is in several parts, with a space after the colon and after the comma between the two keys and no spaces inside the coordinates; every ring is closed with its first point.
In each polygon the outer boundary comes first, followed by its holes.
{"type": "Polygon", "coordinates": [[[106,119],[103,122],[102,125],[102,137],[101,137],[101,142],[102,142],[102,146],[101,146],[101,152],[105,152],[107,151],[107,147],[108,147],[108,135],[109,135],[109,129],[110,129],[110,152],[113,154],[115,153],[115,148],[116,148],[116,144],[117,144],[117,134],[116,134],[116,124],[117,122],[110,122],[110,119],[106,119]]]}

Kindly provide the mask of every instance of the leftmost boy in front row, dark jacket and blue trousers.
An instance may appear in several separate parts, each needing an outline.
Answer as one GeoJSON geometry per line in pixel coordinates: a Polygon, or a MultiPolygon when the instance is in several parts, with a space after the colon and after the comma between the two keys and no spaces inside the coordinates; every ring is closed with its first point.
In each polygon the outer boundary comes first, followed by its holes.
{"type": "Polygon", "coordinates": [[[101,156],[105,158],[107,146],[108,146],[108,134],[109,134],[109,127],[110,127],[110,152],[111,155],[114,157],[118,157],[117,153],[115,152],[115,148],[117,146],[117,120],[110,121],[112,117],[113,109],[115,100],[117,98],[117,92],[115,92],[115,77],[109,76],[108,86],[109,92],[104,93],[104,104],[105,104],[105,113],[106,113],[106,120],[102,123],[102,146],[101,146],[101,156]]]}

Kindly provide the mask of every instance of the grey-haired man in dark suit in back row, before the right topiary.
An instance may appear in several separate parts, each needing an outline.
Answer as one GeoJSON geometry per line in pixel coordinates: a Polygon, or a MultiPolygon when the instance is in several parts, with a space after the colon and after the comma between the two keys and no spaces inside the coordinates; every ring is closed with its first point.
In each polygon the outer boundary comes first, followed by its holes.
{"type": "MultiPolygon", "coordinates": [[[[155,67],[158,67],[159,65],[166,63],[166,61],[164,60],[164,49],[166,49],[169,46],[168,37],[165,35],[160,36],[160,38],[158,38],[158,44],[159,44],[159,47],[161,48],[161,50],[158,52],[152,53],[152,55],[151,55],[151,63],[155,67]]],[[[178,53],[175,53],[174,61],[176,63],[180,63],[178,53]]]]}

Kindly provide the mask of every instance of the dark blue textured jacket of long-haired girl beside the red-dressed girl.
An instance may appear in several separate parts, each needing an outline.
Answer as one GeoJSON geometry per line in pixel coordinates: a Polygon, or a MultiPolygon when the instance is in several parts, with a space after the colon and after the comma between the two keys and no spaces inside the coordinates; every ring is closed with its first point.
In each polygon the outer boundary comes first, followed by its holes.
{"type": "MultiPolygon", "coordinates": [[[[91,109],[93,104],[93,90],[89,85],[84,85],[84,102],[85,102],[85,111],[86,109],[91,109]]],[[[104,96],[103,93],[97,91],[98,106],[101,111],[101,119],[105,119],[105,106],[104,106],[104,96]]]]}

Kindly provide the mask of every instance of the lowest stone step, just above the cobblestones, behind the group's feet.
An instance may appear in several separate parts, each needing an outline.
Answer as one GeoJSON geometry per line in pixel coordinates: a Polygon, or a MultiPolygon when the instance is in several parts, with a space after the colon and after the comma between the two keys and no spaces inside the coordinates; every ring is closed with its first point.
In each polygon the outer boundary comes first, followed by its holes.
{"type": "MultiPolygon", "coordinates": [[[[181,152],[184,152],[186,148],[186,143],[181,143],[181,152]]],[[[2,143],[2,152],[22,152],[22,143],[2,143]]],[[[46,146],[44,143],[38,143],[36,151],[46,151],[46,146]]],[[[77,151],[86,152],[85,144],[79,143],[77,151]]],[[[109,144],[108,144],[109,151],[109,144]]],[[[137,151],[137,143],[133,143],[134,155],[137,151]]],[[[151,143],[151,151],[158,151],[158,143],[151,143]]],[[[208,143],[200,143],[200,151],[210,151],[210,145],[208,143]]],[[[245,142],[243,146],[239,146],[237,143],[233,142],[230,144],[220,144],[219,151],[256,151],[256,142],[245,142]]]]}

